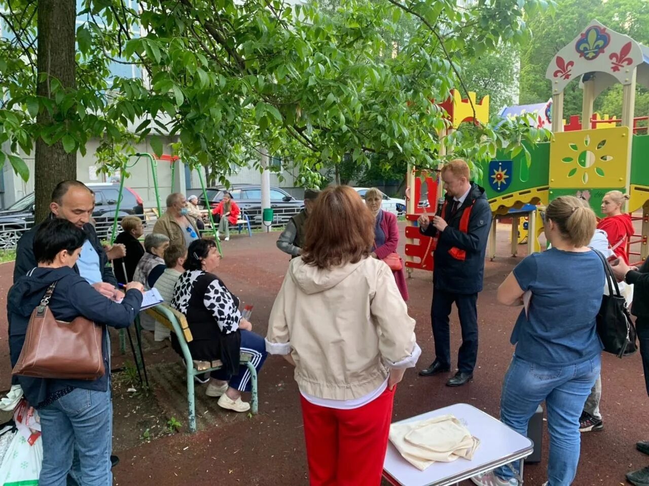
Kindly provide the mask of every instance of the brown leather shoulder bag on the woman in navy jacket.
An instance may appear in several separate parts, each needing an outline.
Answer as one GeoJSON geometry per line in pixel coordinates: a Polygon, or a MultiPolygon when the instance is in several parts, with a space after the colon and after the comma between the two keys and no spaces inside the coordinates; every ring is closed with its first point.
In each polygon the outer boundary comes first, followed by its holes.
{"type": "Polygon", "coordinates": [[[25,344],[12,374],[54,379],[102,377],[101,326],[82,316],[72,322],[56,320],[49,310],[55,287],[56,282],[47,288],[29,318],[25,344]]]}

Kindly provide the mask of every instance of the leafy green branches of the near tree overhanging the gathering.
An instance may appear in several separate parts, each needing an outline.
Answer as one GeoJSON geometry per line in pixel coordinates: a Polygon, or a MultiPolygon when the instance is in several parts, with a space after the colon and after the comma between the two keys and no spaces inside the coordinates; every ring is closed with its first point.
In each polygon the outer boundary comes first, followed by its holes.
{"type": "MultiPolygon", "coordinates": [[[[293,160],[300,182],[349,154],[367,164],[435,166],[445,127],[431,99],[446,99],[463,60],[527,39],[524,14],[545,0],[342,0],[335,14],[319,3],[281,0],[151,0],[130,10],[119,0],[84,0],[76,32],[77,83],[52,81],[36,96],[34,5],[0,0],[16,36],[0,42],[0,142],[29,153],[36,138],[84,151],[90,137],[124,151],[130,131],[169,134],[178,155],[227,174],[263,149],[293,160]],[[142,34],[140,32],[143,32],[142,34]],[[10,60],[10,61],[8,61],[10,60]],[[111,62],[133,63],[144,79],[113,77],[111,62]],[[53,116],[36,120],[43,110],[53,116]]],[[[462,83],[460,83],[462,84],[462,83]]],[[[465,86],[463,86],[465,88],[465,86]]],[[[471,127],[447,138],[456,155],[483,160],[539,131],[471,127]]],[[[107,155],[108,154],[108,155],[107,155]]],[[[117,166],[123,158],[117,158],[117,166]]],[[[253,162],[255,163],[255,162],[253,162]]]]}

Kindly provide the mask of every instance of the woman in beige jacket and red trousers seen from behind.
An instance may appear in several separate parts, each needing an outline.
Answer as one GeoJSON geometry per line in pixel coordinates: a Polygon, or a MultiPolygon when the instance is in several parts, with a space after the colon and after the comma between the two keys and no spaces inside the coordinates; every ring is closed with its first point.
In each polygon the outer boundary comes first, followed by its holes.
{"type": "Polygon", "coordinates": [[[380,484],[395,385],[421,354],[373,242],[356,191],[326,188],[271,311],[266,350],[295,366],[312,486],[380,484]]]}

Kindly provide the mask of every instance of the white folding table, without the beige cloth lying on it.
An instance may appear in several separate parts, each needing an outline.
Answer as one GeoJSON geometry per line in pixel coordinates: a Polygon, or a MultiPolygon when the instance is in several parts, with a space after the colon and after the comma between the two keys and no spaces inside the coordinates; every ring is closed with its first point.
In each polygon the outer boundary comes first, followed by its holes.
{"type": "Polygon", "coordinates": [[[439,415],[453,415],[480,439],[480,446],[471,461],[463,458],[450,463],[433,463],[420,471],[411,465],[397,451],[391,442],[387,444],[383,477],[394,486],[449,486],[468,480],[476,474],[496,467],[520,461],[520,477],[523,473],[523,459],[532,454],[534,444],[530,439],[513,431],[493,416],[467,403],[456,403],[422,415],[406,418],[401,422],[425,420],[439,415]]]}

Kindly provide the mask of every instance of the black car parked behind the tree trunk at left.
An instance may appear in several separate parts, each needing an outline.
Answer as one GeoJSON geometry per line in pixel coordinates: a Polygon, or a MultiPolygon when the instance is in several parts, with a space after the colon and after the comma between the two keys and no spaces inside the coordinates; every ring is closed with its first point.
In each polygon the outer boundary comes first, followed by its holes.
{"type": "MultiPolygon", "coordinates": [[[[110,237],[112,224],[116,215],[119,184],[87,184],[95,193],[95,220],[99,238],[110,237]]],[[[143,201],[137,192],[125,187],[122,201],[119,204],[118,219],[130,214],[144,218],[143,201]]],[[[25,231],[34,225],[34,193],[27,194],[7,209],[0,211],[0,248],[16,246],[25,231]]]]}

